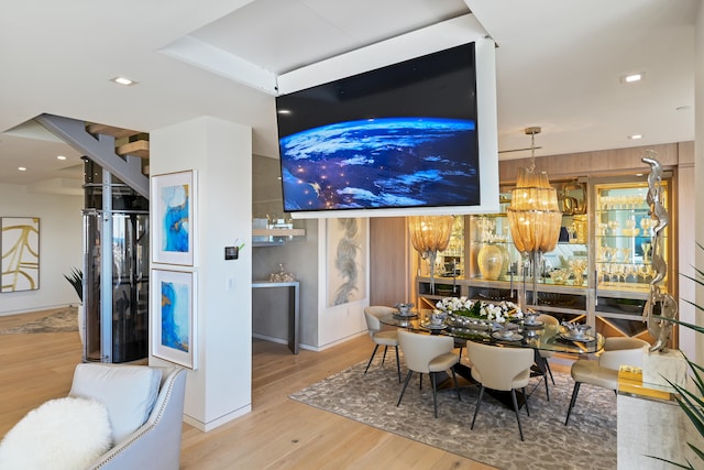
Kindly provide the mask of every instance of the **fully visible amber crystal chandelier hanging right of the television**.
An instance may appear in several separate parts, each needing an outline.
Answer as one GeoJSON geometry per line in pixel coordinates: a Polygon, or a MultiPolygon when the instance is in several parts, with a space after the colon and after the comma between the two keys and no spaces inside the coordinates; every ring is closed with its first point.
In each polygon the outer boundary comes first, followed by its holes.
{"type": "Polygon", "coordinates": [[[530,135],[530,167],[518,168],[516,188],[512,190],[508,225],[516,249],[529,256],[532,265],[534,304],[537,304],[537,277],[541,253],[554,250],[560,238],[562,212],[558,193],[550,186],[548,174],[536,172],[536,134],[540,128],[526,128],[530,135]]]}

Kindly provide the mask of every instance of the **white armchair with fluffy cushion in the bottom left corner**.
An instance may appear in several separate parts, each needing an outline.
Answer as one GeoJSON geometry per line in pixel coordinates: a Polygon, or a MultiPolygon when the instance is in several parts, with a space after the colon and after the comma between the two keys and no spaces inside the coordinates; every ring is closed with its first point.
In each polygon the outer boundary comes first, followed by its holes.
{"type": "Polygon", "coordinates": [[[0,442],[3,470],[178,470],[186,371],[78,364],[69,396],[28,413],[0,442]]]}

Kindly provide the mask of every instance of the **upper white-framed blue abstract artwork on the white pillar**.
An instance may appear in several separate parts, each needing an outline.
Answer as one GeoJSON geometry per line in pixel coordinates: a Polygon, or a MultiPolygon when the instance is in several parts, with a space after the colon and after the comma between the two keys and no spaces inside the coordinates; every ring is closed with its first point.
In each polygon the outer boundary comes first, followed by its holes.
{"type": "Polygon", "coordinates": [[[195,176],[193,170],[152,176],[155,263],[194,265],[195,176]]]}

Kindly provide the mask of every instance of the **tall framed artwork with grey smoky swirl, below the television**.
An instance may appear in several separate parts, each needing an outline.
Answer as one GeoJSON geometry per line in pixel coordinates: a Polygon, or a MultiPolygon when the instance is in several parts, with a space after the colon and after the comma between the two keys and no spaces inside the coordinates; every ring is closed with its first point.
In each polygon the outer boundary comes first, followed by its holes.
{"type": "Polygon", "coordinates": [[[328,307],[366,297],[366,220],[327,219],[328,307]]]}

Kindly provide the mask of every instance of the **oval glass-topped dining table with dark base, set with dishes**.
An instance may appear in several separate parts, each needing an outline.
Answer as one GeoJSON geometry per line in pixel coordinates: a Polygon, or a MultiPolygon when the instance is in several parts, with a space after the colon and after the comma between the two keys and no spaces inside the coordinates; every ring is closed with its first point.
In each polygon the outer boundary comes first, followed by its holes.
{"type": "MultiPolygon", "coordinates": [[[[397,311],[381,317],[380,321],[387,326],[416,332],[450,336],[459,340],[455,341],[459,345],[466,340],[495,345],[496,347],[531,348],[535,352],[531,375],[541,376],[546,381],[548,400],[550,400],[547,384],[548,364],[547,359],[539,353],[540,350],[579,356],[598,352],[604,348],[605,338],[600,332],[575,335],[574,330],[565,326],[543,324],[535,317],[514,318],[506,324],[495,324],[477,318],[442,315],[442,321],[433,324],[433,314],[437,311],[432,309],[408,310],[405,314],[397,311]]],[[[460,361],[453,369],[470,384],[474,383],[469,365],[460,361]]],[[[501,401],[504,401],[503,393],[496,395],[501,401]]],[[[522,397],[519,397],[519,405],[522,406],[522,397]]]]}

